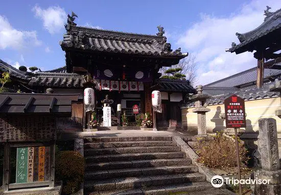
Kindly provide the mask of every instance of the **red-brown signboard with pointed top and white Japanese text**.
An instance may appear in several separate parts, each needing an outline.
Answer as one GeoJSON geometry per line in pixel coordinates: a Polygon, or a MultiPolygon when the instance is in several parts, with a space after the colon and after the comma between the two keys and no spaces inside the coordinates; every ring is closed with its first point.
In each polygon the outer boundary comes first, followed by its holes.
{"type": "Polygon", "coordinates": [[[246,128],[244,100],[233,94],[224,100],[226,128],[246,128]]]}

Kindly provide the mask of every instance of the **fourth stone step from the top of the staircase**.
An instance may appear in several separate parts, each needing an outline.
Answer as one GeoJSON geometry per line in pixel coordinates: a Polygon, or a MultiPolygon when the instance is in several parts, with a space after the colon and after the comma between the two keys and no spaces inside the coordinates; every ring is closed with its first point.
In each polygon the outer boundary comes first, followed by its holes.
{"type": "Polygon", "coordinates": [[[130,154],[115,154],[115,155],[98,155],[85,156],[86,163],[88,162],[111,162],[111,161],[125,161],[125,160],[148,160],[159,158],[183,158],[184,152],[155,152],[155,153],[130,153],[130,154]]]}

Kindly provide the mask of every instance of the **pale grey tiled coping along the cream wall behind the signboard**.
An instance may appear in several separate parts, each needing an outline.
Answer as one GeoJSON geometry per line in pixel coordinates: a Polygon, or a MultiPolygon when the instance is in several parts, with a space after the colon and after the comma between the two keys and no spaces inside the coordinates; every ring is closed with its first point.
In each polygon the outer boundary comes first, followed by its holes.
{"type": "MultiPolygon", "coordinates": [[[[213,96],[212,98],[207,99],[207,105],[213,104],[222,104],[224,100],[228,98],[232,94],[236,94],[237,96],[243,98],[245,101],[247,100],[254,100],[254,99],[264,99],[270,97],[279,97],[279,92],[270,92],[269,86],[272,85],[272,82],[265,83],[263,88],[256,88],[256,86],[250,86],[246,88],[237,89],[237,91],[233,93],[227,93],[223,95],[213,96]]],[[[204,87],[203,87],[204,90],[204,87]]],[[[203,91],[204,93],[204,91],[203,91]]],[[[185,105],[186,107],[193,107],[195,103],[189,103],[185,105]]]]}

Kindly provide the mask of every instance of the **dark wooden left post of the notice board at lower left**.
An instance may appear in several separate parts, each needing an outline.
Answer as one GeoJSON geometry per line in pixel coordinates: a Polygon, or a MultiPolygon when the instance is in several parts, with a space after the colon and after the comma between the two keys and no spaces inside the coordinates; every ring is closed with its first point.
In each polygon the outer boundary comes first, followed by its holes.
{"type": "Polygon", "coordinates": [[[3,166],[3,190],[8,191],[9,180],[10,180],[10,143],[5,143],[4,145],[4,166],[3,166]]]}

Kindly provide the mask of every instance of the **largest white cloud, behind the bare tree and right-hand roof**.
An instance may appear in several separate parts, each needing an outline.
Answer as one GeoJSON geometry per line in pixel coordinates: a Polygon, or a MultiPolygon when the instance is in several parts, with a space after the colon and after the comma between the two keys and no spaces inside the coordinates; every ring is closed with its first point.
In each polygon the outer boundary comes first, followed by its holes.
{"type": "Polygon", "coordinates": [[[236,32],[246,33],[263,23],[266,5],[275,11],[281,7],[281,1],[255,0],[228,17],[202,13],[200,20],[178,38],[177,44],[197,56],[198,83],[205,85],[256,66],[253,53],[236,55],[225,49],[231,47],[231,42],[239,43],[236,32]]]}

